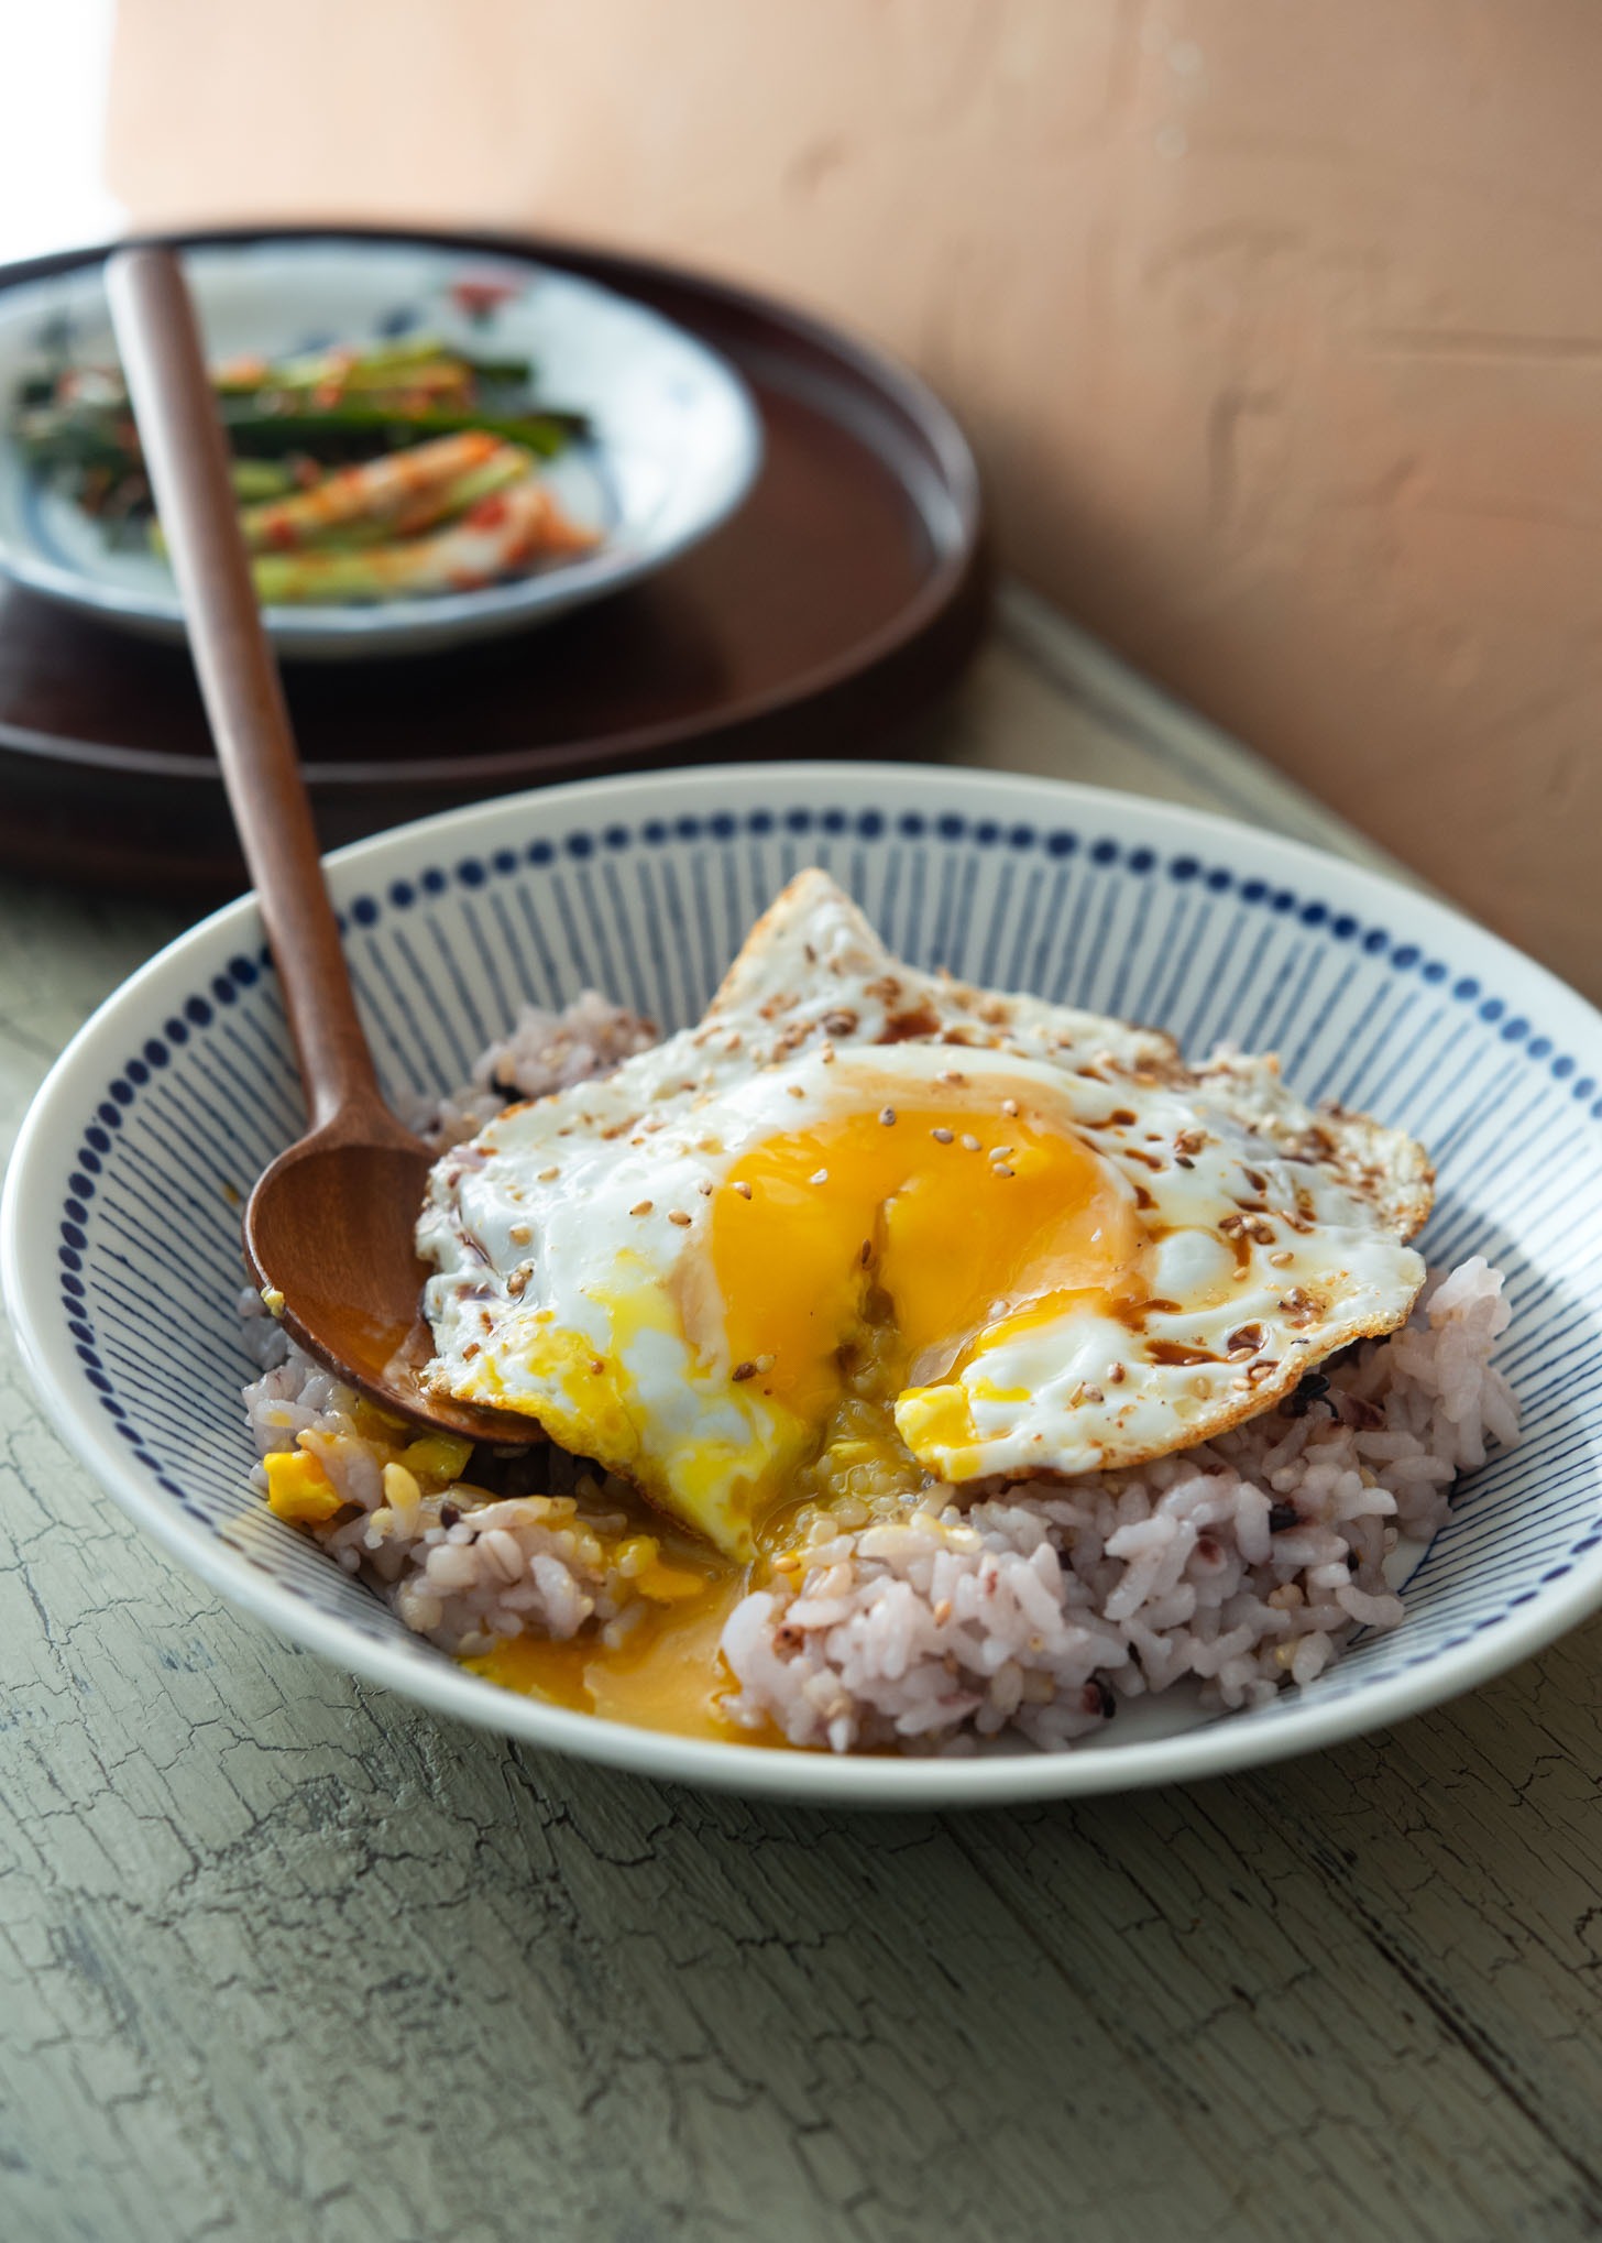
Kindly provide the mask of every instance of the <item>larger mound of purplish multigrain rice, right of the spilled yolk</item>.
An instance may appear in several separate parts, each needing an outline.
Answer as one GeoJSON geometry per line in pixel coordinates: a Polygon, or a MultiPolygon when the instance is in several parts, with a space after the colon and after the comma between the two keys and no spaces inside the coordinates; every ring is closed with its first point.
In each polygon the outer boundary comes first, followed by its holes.
{"type": "Polygon", "coordinates": [[[1133,1471],[936,1487],[848,1532],[819,1519],[803,1568],[729,1619],[725,1711],[835,1752],[1007,1727],[1059,1747],[1176,1682],[1214,1709],[1310,1682],[1357,1628],[1402,1619],[1398,1539],[1434,1534],[1458,1471],[1517,1438],[1488,1362],[1506,1326],[1501,1274],[1474,1256],[1308,1382],[1299,1415],[1133,1471]]]}

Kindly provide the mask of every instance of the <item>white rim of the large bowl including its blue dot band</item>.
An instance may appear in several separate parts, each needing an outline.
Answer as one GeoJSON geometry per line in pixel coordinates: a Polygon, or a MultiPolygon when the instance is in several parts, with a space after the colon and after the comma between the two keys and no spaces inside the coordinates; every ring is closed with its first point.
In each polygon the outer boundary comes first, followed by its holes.
{"type": "MultiPolygon", "coordinates": [[[[808,843],[853,837],[875,843],[897,834],[909,843],[965,843],[1014,852],[1019,861],[1081,859],[1153,884],[1212,888],[1247,911],[1297,917],[1355,953],[1384,956],[1398,976],[1434,985],[1506,1041],[1510,1059],[1562,1086],[1586,1124],[1602,1124],[1602,1016],[1497,935],[1306,843],[1214,812],[1066,781],[828,763],[581,781],[395,828],[337,850],[328,873],[348,931],[357,931],[451,888],[487,888],[530,864],[583,866],[633,848],[725,843],[738,834],[792,837],[799,861],[808,861],[808,843]]],[[[67,1236],[83,1216],[67,1187],[67,1171],[81,1160],[72,1148],[94,1133],[96,1108],[126,1110],[137,1101],[168,1063],[168,1041],[202,1032],[215,1009],[263,976],[260,942],[256,902],[240,897],[148,960],[79,1030],[40,1086],[7,1171],[0,1283],[49,1418],[121,1507],[211,1588],[363,1680],[395,1687],[438,1714],[662,1779],[819,1803],[978,1806],[1200,1779],[1337,1743],[1490,1680],[1602,1604],[1602,1521],[1593,1519],[1568,1561],[1535,1590],[1373,1684],[1333,1691],[1313,1684],[1265,1714],[1223,1716],[1126,1745],[947,1761],[832,1759],[630,1729],[500,1691],[417,1642],[375,1640],[319,1610],[188,1516],[182,1489],[166,1483],[164,1492],[150,1469],[135,1469],[137,1440],[126,1436],[119,1444],[117,1427],[103,1431],[88,1406],[105,1404],[105,1395],[85,1382],[83,1348],[74,1348],[54,1290],[58,1238],[67,1238],[67,1256],[79,1252],[67,1236]],[[63,1216],[70,1202],[74,1211],[63,1216]]],[[[1595,1299],[1589,1308],[1602,1321],[1595,1299]]],[[[146,1462],[155,1467],[155,1458],[146,1462]]],[[[1342,1673],[1335,1667],[1331,1680],[1342,1673]]]]}

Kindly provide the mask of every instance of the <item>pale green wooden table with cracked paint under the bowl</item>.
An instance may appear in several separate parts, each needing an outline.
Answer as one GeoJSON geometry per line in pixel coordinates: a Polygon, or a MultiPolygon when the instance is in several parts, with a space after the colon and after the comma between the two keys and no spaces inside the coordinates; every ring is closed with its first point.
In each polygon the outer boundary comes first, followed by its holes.
{"type": "MultiPolygon", "coordinates": [[[[1021,597],[927,751],[1373,859],[1021,597]]],[[[7,1130],[177,924],[0,888],[7,1130]]],[[[0,1377],[4,2243],[1602,2230],[1598,1626],[1191,1792],[747,1808],[276,1642],[0,1377]]]]}

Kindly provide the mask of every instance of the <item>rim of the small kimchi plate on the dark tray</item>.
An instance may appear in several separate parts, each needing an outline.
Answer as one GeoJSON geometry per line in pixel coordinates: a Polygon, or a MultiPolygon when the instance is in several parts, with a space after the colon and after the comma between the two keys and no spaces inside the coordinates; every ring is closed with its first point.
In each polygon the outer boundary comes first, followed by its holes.
{"type": "MultiPolygon", "coordinates": [[[[130,236],[130,240],[135,238],[130,236]]],[[[734,366],[734,361],[713,348],[705,336],[682,327],[675,319],[669,319],[666,312],[657,312],[655,305],[639,303],[628,296],[626,289],[613,287],[608,280],[597,280],[590,274],[570,271],[563,265],[547,262],[536,247],[518,249],[514,240],[507,240],[500,249],[467,251],[449,240],[431,238],[424,231],[408,233],[397,229],[381,236],[363,236],[357,229],[346,231],[341,227],[301,231],[285,227],[283,231],[260,229],[220,236],[173,233],[162,236],[162,240],[166,240],[168,247],[175,247],[184,258],[218,256],[240,258],[242,262],[274,251],[346,251],[357,258],[368,251],[377,251],[379,256],[386,251],[431,251],[458,258],[480,256],[485,262],[503,258],[507,265],[518,265],[532,276],[561,280],[565,287],[583,296],[599,296],[606,303],[622,305],[630,319],[660,330],[662,336],[669,336],[680,350],[702,363],[702,377],[713,381],[725,393],[731,413],[734,442],[713,491],[713,505],[698,509],[698,514],[682,523],[666,541],[653,543],[646,538],[642,545],[606,543],[586,561],[570,561],[561,570],[518,576],[509,583],[480,585],[473,592],[440,592],[417,599],[377,601],[372,606],[348,601],[330,603],[328,608],[263,608],[267,635],[283,655],[377,655],[399,650],[402,639],[417,639],[420,635],[424,635],[433,646],[455,639],[458,635],[487,628],[514,628],[521,621],[554,617],[565,608],[604,599],[610,592],[622,592],[626,585],[639,583],[644,576],[653,576],[657,570],[666,567],[671,561],[682,559],[720,529],[745,502],[756,476],[761,473],[765,455],[763,417],[752,386],[738,366],[734,366]]],[[[105,258],[119,247],[126,244],[99,244],[70,262],[52,265],[47,271],[18,269],[16,278],[4,280],[0,287],[0,307],[9,312],[16,298],[25,298],[25,303],[38,301],[40,310],[45,310],[52,292],[76,283],[92,285],[94,276],[105,265],[105,258]]],[[[4,428],[0,428],[0,444],[9,449],[9,431],[4,428]]],[[[148,630],[168,639],[182,639],[184,635],[184,612],[177,601],[177,592],[144,592],[119,583],[105,583],[96,576],[85,576],[83,570],[63,561],[52,561],[34,545],[7,538],[2,532],[0,570],[27,592],[36,592],[40,599],[61,601],[63,606],[99,617],[101,621],[148,630]]]]}

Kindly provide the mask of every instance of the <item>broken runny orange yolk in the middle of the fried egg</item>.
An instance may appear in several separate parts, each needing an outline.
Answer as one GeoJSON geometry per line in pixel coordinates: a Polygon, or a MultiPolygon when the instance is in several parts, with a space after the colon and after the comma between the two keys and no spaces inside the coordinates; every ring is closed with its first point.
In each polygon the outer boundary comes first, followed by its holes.
{"type": "Polygon", "coordinates": [[[749,1146],[713,1202],[734,1375],[819,1431],[868,1326],[900,1391],[1070,1305],[1115,1314],[1144,1292],[1129,1187],[1039,1086],[882,1090],[749,1146]]]}

